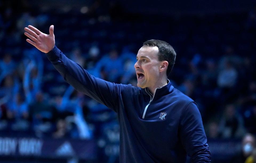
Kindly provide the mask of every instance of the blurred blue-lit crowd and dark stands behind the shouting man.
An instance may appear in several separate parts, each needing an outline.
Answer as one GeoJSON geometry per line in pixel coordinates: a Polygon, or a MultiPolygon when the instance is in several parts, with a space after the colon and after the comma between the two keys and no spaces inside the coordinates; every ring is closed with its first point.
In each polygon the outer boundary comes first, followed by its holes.
{"type": "MultiPolygon", "coordinates": [[[[26,42],[24,27],[49,34],[53,24],[55,44],[67,57],[115,83],[136,86],[134,63],[144,41],[170,43],[177,58],[169,79],[198,104],[213,162],[255,162],[255,2],[188,2],[191,8],[181,2],[155,3],[1,1],[0,137],[92,140],[97,157],[89,161],[119,162],[117,115],[75,91],[45,54],[26,42]]],[[[1,150],[0,158],[57,159],[9,156],[1,150]]],[[[88,162],[70,158],[65,159],[88,162]]]]}

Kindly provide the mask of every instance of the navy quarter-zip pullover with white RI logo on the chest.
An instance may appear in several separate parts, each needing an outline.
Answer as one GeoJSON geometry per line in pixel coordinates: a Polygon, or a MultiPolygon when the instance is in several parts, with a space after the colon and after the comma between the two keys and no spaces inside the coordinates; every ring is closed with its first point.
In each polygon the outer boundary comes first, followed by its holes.
{"type": "Polygon", "coordinates": [[[56,46],[46,54],[63,78],[118,114],[120,162],[210,162],[197,104],[171,82],[155,89],[111,83],[95,78],[56,46]]]}

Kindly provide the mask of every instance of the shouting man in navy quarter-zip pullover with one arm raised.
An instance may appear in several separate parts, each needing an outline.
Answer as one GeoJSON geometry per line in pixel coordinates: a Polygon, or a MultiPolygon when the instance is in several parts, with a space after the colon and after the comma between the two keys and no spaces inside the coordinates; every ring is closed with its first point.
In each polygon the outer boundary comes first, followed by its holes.
{"type": "MultiPolygon", "coordinates": [[[[120,124],[120,162],[210,162],[211,154],[197,104],[167,79],[176,53],[166,42],[143,43],[134,65],[138,87],[95,78],[68,59],[53,34],[25,28],[27,42],[45,52],[63,78],[77,91],[111,108],[120,124]]],[[[113,65],[114,66],[114,65],[113,65]]]]}

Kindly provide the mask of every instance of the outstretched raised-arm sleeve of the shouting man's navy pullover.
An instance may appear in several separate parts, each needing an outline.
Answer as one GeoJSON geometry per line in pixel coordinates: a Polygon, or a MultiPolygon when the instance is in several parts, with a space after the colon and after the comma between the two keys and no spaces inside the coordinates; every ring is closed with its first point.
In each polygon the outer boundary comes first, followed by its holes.
{"type": "Polygon", "coordinates": [[[119,109],[119,96],[126,87],[90,75],[79,64],[68,59],[56,46],[46,56],[63,76],[64,80],[77,91],[82,92],[115,112],[119,109]]]}

